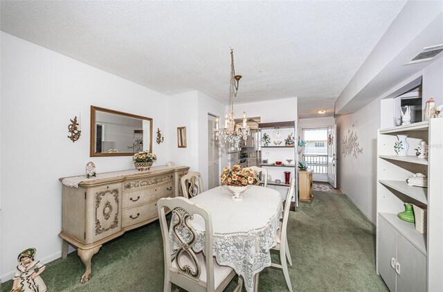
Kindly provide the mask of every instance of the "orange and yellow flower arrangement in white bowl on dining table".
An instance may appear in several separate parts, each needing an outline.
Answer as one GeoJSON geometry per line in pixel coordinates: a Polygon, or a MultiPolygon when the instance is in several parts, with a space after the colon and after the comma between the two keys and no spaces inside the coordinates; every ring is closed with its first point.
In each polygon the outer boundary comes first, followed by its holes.
{"type": "Polygon", "coordinates": [[[232,169],[228,166],[224,167],[220,178],[221,184],[228,185],[229,190],[233,192],[231,199],[241,201],[242,192],[257,179],[257,174],[251,168],[242,169],[240,165],[236,164],[232,169]]]}

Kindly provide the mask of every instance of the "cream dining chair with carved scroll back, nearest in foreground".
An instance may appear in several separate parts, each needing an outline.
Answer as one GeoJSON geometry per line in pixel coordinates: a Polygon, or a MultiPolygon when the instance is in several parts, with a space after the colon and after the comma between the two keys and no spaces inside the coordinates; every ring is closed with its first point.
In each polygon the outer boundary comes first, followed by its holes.
{"type": "MultiPolygon", "coordinates": [[[[210,213],[189,199],[183,197],[163,198],[157,202],[163,253],[165,258],[164,292],[170,292],[172,283],[187,291],[223,291],[235,276],[229,266],[219,266],[213,257],[213,222],[210,213]],[[172,210],[170,229],[165,216],[165,208],[172,210]],[[196,253],[192,248],[197,241],[197,232],[190,220],[195,215],[204,219],[204,253],[196,253]],[[185,230],[182,237],[179,230],[185,230]],[[174,237],[179,248],[171,255],[170,236],[174,237]],[[207,256],[205,256],[207,255],[207,256]]],[[[235,291],[242,290],[242,277],[238,277],[235,291]]]]}

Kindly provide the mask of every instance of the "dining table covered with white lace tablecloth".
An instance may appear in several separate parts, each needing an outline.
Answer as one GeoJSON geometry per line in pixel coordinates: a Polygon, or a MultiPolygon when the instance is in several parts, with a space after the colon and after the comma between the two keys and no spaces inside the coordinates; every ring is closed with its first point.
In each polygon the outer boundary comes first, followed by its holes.
{"type": "MultiPolygon", "coordinates": [[[[227,186],[201,192],[190,200],[210,212],[213,223],[213,256],[217,264],[230,266],[244,280],[246,291],[257,291],[260,271],[271,266],[271,248],[277,244],[283,204],[280,192],[248,185],[241,201],[231,199],[227,186]]],[[[204,220],[192,221],[197,232],[195,252],[204,250],[204,220]]],[[[170,234],[172,251],[177,239],[170,234]]]]}

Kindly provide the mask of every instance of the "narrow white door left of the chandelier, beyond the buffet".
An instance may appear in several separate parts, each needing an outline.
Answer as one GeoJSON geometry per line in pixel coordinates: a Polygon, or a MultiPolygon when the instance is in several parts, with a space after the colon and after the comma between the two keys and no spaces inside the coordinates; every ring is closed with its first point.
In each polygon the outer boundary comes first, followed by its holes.
{"type": "Polygon", "coordinates": [[[220,147],[213,136],[215,116],[208,115],[208,190],[220,185],[220,147]]]}

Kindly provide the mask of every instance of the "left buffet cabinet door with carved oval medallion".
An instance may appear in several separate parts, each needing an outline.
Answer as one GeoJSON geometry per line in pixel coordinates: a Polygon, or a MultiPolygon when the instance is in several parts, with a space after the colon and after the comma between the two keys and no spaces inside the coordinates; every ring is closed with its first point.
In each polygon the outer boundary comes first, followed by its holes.
{"type": "Polygon", "coordinates": [[[91,228],[86,232],[86,239],[97,241],[121,230],[122,184],[114,183],[97,188],[90,188],[88,205],[91,228]]]}

